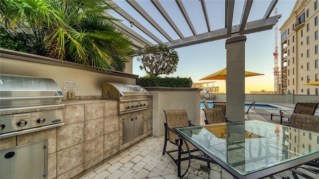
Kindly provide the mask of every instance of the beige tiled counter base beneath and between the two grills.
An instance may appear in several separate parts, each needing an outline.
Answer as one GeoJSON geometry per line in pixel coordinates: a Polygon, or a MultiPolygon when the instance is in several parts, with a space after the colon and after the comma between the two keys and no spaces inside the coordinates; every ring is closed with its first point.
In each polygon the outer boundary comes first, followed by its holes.
{"type": "Polygon", "coordinates": [[[118,114],[118,101],[65,100],[64,126],[3,138],[0,149],[48,140],[48,179],[79,178],[151,135],[153,100],[148,109],[118,114]],[[143,114],[144,133],[122,143],[122,120],[143,114]]]}

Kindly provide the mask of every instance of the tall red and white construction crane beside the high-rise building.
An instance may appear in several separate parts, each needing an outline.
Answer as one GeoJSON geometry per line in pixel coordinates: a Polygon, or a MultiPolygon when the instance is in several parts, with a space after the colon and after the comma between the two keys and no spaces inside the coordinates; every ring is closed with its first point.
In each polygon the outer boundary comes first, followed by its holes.
{"type": "MultiPolygon", "coordinates": [[[[275,15],[277,15],[277,8],[275,8],[275,15]]],[[[275,52],[274,52],[274,91],[279,94],[279,67],[278,67],[278,36],[277,36],[277,22],[275,24],[275,52]]]]}

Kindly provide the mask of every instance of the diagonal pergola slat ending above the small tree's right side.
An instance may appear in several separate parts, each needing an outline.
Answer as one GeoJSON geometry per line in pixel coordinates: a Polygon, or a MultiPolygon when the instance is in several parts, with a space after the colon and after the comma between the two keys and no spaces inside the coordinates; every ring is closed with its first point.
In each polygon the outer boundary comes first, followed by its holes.
{"type": "Polygon", "coordinates": [[[150,24],[156,28],[168,41],[173,39],[165,32],[164,29],[136,2],[136,0],[126,0],[134,9],[136,9],[150,24]]]}

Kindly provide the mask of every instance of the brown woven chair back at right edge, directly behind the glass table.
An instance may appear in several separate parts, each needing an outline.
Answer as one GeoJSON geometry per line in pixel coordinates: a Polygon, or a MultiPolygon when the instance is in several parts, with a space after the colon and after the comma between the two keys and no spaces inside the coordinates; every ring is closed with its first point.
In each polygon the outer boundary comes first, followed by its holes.
{"type": "Polygon", "coordinates": [[[290,120],[290,127],[319,132],[319,116],[293,113],[290,120]]]}

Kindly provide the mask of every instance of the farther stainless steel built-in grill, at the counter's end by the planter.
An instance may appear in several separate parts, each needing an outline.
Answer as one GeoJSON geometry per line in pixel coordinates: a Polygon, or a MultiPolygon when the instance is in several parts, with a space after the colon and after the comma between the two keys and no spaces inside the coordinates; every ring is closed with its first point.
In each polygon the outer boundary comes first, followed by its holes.
{"type": "Polygon", "coordinates": [[[149,92],[138,85],[102,84],[102,98],[119,100],[119,114],[147,109],[149,92]]]}

